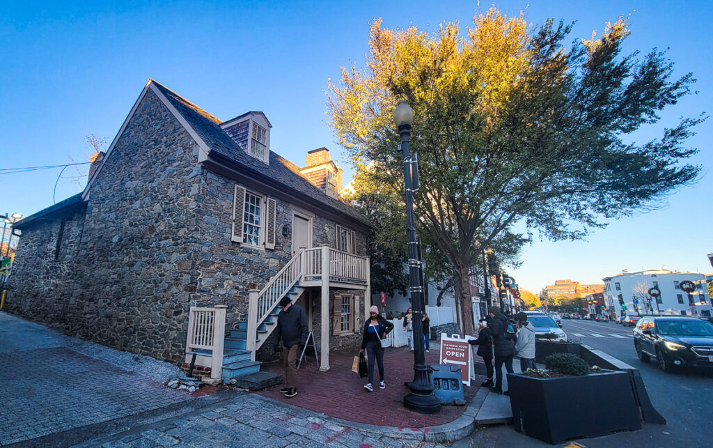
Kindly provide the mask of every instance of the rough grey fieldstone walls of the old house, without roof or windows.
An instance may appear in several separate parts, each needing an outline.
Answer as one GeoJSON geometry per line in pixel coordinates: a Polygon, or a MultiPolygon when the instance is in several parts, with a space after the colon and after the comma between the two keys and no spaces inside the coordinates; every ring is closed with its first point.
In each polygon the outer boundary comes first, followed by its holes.
{"type": "MultiPolygon", "coordinates": [[[[292,256],[291,235],[280,232],[292,222],[292,206],[276,198],[275,250],[232,243],[236,181],[202,168],[200,151],[148,89],[86,205],[23,229],[5,310],[174,363],[183,362],[191,305],[227,305],[226,328],[237,325],[247,315],[248,290],[265,285],[292,256]]],[[[336,238],[336,223],[317,215],[312,244],[335,247],[336,238]]],[[[366,244],[357,232],[359,255],[366,244]]],[[[363,322],[364,295],[356,293],[363,322]]],[[[318,343],[320,312],[314,307],[318,343]]],[[[335,337],[332,347],[358,343],[360,330],[335,337]]],[[[262,351],[271,357],[272,345],[262,351]]]]}

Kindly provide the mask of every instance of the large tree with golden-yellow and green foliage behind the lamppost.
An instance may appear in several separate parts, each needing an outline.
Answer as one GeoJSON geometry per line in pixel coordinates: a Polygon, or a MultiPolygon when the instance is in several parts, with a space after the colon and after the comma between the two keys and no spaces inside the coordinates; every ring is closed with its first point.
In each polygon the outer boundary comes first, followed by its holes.
{"type": "Polygon", "coordinates": [[[384,167],[384,188],[403,191],[391,113],[399,99],[414,108],[416,218],[458,274],[465,316],[474,254],[513,223],[553,240],[583,238],[610,218],[660,205],[699,172],[682,161],[696,152],[685,142],[702,118],[683,118],[652,141],[633,134],[689,93],[692,76],[674,78],[657,50],[622,55],[624,19],[600,39],[565,45],[570,30],[496,9],[463,34],[453,23],[431,36],[376,20],[366,67],[343,68],[329,83],[339,143],[357,170],[384,167]]]}

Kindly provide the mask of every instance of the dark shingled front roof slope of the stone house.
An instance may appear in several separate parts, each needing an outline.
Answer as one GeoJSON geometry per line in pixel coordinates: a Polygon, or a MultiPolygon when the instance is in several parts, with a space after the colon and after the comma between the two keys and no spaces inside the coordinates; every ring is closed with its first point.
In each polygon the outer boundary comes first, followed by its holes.
{"type": "Polygon", "coordinates": [[[183,119],[193,131],[205,142],[209,151],[208,156],[212,155],[211,153],[217,153],[235,162],[237,166],[246,168],[249,172],[260,174],[265,178],[272,179],[274,182],[284,185],[294,193],[297,193],[297,195],[306,196],[342,215],[347,215],[349,218],[368,225],[370,228],[374,227],[364,215],[361,215],[361,213],[354,208],[342,203],[340,200],[330,198],[322,190],[319,190],[319,188],[312,185],[312,183],[309,183],[309,180],[299,173],[299,167],[294,165],[294,163],[287,161],[287,159],[279,156],[279,154],[274,151],[270,151],[270,165],[247,155],[247,153],[245,153],[240,146],[237,146],[237,143],[220,128],[221,121],[218,118],[203,111],[198,106],[195,106],[195,104],[160,83],[150,80],[149,84],[151,83],[158,88],[158,91],[165,96],[176,111],[183,116],[183,119]]]}

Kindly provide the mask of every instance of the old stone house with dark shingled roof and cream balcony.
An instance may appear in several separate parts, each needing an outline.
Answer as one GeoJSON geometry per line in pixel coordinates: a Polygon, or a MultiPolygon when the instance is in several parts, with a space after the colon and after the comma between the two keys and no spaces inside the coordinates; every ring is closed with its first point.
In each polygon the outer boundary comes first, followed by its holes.
{"type": "Polygon", "coordinates": [[[83,192],[16,224],[6,310],[181,362],[190,307],[226,305],[227,330],[260,332],[243,343],[255,360],[272,356],[270,314],[289,286],[328,370],[371,305],[372,225],[270,151],[270,128],[262,112],[221,121],[149,80],[83,192]]]}

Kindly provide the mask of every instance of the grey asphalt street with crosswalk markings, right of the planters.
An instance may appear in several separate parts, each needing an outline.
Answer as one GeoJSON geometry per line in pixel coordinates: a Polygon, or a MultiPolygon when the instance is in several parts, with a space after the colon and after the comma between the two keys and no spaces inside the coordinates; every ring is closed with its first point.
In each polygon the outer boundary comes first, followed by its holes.
{"type": "MultiPolygon", "coordinates": [[[[614,322],[563,320],[568,339],[581,342],[636,367],[641,372],[652,404],[667,424],[644,424],[640,431],[620,432],[596,439],[580,439],[584,447],[710,447],[713,440],[713,374],[662,372],[656,362],[641,362],[634,349],[632,329],[614,322]]],[[[596,418],[593,415],[593,418],[596,418]]],[[[539,447],[543,444],[510,425],[473,432],[457,447],[539,447]]]]}

